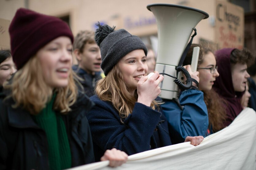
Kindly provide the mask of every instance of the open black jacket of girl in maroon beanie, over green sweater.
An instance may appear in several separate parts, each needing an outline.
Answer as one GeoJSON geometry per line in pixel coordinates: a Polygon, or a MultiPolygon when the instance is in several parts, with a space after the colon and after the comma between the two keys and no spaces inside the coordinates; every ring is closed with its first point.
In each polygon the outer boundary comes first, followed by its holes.
{"type": "MultiPolygon", "coordinates": [[[[13,99],[0,100],[0,169],[47,170],[46,133],[28,111],[12,108],[13,99]]],[[[90,127],[86,118],[93,103],[80,94],[72,111],[62,115],[69,139],[72,167],[94,162],[90,127]]],[[[59,113],[58,113],[59,114],[59,113]]]]}

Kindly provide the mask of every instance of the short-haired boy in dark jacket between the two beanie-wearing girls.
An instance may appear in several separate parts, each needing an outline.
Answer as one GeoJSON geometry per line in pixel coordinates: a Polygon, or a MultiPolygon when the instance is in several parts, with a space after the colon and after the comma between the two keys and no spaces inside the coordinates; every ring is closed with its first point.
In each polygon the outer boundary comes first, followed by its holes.
{"type": "Polygon", "coordinates": [[[94,40],[93,31],[80,31],[73,44],[78,65],[72,69],[78,75],[83,90],[87,96],[94,95],[94,87],[101,77],[101,52],[94,40]]]}

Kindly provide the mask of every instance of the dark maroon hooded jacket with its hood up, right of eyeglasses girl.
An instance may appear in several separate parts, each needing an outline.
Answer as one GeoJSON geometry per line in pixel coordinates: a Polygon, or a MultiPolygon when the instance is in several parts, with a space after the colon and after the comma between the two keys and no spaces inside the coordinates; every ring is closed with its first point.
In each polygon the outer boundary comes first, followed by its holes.
{"type": "Polygon", "coordinates": [[[230,55],[233,50],[233,48],[221,49],[215,54],[220,76],[216,78],[213,88],[227,102],[223,105],[227,114],[224,126],[230,125],[243,110],[240,100],[244,92],[235,92],[232,82],[230,55]]]}

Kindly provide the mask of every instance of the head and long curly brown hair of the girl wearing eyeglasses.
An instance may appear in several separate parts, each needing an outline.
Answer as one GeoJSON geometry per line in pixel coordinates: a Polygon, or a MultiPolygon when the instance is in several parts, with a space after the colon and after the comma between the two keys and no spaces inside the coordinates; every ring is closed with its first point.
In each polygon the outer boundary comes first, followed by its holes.
{"type": "Polygon", "coordinates": [[[216,66],[216,58],[212,51],[199,44],[191,45],[187,57],[184,61],[185,64],[190,64],[192,60],[193,48],[200,47],[197,71],[199,71],[199,90],[204,93],[204,102],[207,106],[209,126],[206,136],[218,132],[224,128],[224,121],[226,118],[225,110],[220,107],[224,102],[223,99],[212,89],[214,82],[219,77],[218,66],[216,66]]]}

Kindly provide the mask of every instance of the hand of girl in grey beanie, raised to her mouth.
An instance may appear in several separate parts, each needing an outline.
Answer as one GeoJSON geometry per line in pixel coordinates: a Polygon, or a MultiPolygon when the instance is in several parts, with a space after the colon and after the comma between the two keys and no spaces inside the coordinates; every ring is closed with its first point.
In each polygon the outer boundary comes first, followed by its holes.
{"type": "Polygon", "coordinates": [[[161,93],[159,83],[163,81],[163,76],[155,71],[150,78],[143,76],[137,84],[137,102],[150,107],[153,100],[161,93]]]}

